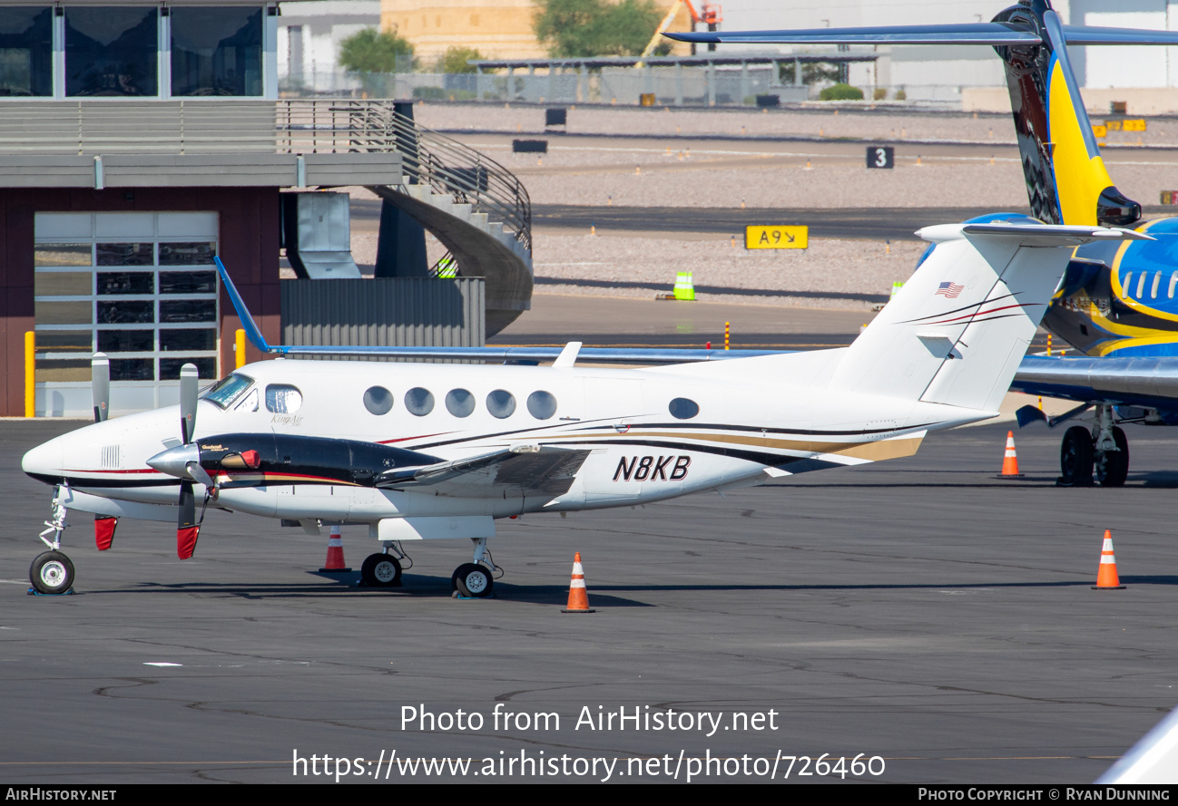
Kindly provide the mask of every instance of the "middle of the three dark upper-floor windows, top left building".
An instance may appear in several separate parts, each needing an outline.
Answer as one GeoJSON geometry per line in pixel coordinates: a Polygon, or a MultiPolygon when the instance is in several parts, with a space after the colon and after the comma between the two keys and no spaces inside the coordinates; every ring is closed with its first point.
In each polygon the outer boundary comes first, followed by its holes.
{"type": "Polygon", "coordinates": [[[67,6],[66,95],[158,95],[158,51],[154,7],[67,6]]]}

